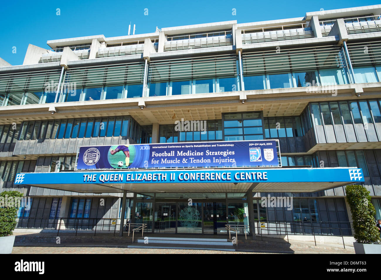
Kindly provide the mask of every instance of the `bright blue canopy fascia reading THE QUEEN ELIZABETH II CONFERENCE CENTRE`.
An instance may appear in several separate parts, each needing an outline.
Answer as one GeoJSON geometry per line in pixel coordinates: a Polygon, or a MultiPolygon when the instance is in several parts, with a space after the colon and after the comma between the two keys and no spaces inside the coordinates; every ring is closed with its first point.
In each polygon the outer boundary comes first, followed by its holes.
{"type": "MultiPolygon", "coordinates": [[[[361,168],[250,168],[227,170],[125,170],[21,173],[15,181],[23,185],[128,184],[194,182],[364,182],[361,168]]],[[[73,201],[74,209],[77,209],[73,201]]]]}

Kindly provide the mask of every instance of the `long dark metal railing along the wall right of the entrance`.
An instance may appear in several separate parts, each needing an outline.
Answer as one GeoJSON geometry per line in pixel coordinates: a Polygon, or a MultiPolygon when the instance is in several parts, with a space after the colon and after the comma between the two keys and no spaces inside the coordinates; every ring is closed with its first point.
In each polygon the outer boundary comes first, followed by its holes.
{"type": "Polygon", "coordinates": [[[324,221],[255,221],[256,234],[261,235],[313,235],[316,246],[316,235],[338,236],[344,244],[344,236],[352,236],[352,222],[324,222],[324,221]],[[346,224],[347,227],[331,227],[325,224],[346,224]],[[347,234],[345,234],[347,233],[347,234]]]}

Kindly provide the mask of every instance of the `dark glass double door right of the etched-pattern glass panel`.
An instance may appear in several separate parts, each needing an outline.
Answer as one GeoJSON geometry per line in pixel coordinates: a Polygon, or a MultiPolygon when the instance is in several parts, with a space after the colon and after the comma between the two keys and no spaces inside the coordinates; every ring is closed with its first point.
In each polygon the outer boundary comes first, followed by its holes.
{"type": "Polygon", "coordinates": [[[225,202],[203,203],[203,234],[227,234],[225,228],[226,222],[225,202]]]}

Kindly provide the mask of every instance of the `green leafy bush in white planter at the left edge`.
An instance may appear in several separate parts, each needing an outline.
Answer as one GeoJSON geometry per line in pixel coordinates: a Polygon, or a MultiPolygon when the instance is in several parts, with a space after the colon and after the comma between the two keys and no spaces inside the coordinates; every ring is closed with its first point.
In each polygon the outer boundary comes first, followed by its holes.
{"type": "MultiPolygon", "coordinates": [[[[14,197],[23,197],[21,192],[17,191],[5,191],[0,194],[0,197],[3,197],[5,200],[5,195],[8,195],[8,198],[12,197],[14,202],[14,197]]],[[[3,198],[0,198],[3,200],[3,198]]],[[[8,206],[8,205],[5,205],[8,206]]],[[[16,217],[17,211],[19,210],[18,206],[15,207],[3,207],[0,208],[0,237],[8,236],[13,234],[13,230],[16,227],[16,217]]]]}

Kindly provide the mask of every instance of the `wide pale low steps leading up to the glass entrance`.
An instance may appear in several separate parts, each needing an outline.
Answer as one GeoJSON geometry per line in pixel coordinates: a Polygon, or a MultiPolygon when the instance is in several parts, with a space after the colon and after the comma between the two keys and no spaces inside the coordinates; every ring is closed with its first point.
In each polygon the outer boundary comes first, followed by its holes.
{"type": "Polygon", "coordinates": [[[233,243],[226,238],[142,237],[128,248],[235,251],[233,243]]]}

